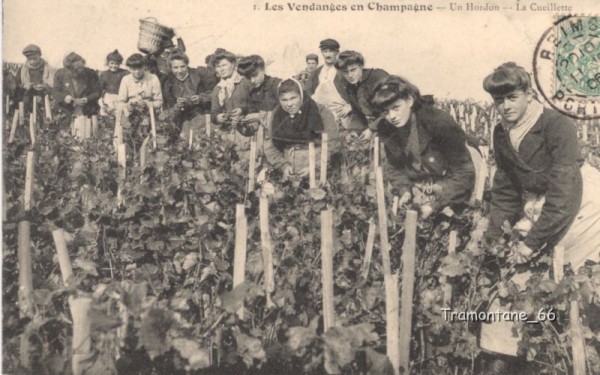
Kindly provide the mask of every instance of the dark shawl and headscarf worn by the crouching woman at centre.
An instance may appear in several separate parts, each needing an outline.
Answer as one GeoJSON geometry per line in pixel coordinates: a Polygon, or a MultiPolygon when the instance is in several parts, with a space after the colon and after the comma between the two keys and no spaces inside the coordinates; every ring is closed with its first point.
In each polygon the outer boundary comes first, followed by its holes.
{"type": "MultiPolygon", "coordinates": [[[[314,100],[304,95],[302,86],[298,81],[293,81],[296,82],[300,90],[302,105],[294,116],[287,113],[281,105],[275,108],[271,123],[271,139],[279,148],[283,147],[285,143],[308,143],[317,139],[324,130],[319,106],[314,100]]],[[[281,86],[281,82],[279,85],[281,86]]],[[[279,87],[277,91],[279,91],[279,87]]]]}

